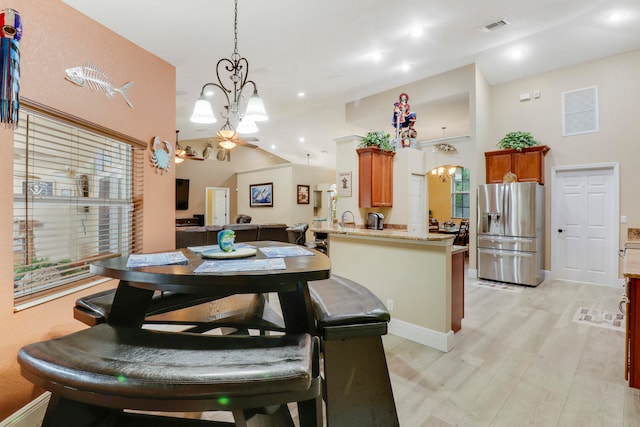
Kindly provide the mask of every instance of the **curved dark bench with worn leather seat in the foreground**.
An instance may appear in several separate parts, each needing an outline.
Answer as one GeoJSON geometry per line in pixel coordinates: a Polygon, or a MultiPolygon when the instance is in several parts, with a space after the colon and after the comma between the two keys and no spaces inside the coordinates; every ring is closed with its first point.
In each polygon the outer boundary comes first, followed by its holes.
{"type": "Polygon", "coordinates": [[[104,323],[29,344],[18,362],[25,378],[52,392],[44,427],[230,425],[125,409],[233,411],[236,425],[263,426],[265,417],[284,423],[289,402],[298,403],[301,426],[321,427],[316,347],[308,334],[210,336],[104,323]],[[256,409],[269,407],[278,410],[256,409]]]}

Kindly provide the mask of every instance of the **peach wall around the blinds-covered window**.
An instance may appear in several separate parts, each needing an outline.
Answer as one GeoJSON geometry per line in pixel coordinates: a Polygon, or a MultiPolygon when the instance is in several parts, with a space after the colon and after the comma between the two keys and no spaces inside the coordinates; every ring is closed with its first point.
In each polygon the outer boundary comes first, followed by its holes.
{"type": "MultiPolygon", "coordinates": [[[[175,139],[175,68],[131,42],[98,25],[58,0],[15,0],[3,8],[16,9],[23,20],[20,95],[106,128],[148,142],[155,135],[175,139]],[[75,86],[64,70],[91,60],[106,71],[115,85],[134,84],[129,108],[116,94],[75,86]]],[[[0,128],[0,180],[13,177],[13,131],[0,128]]],[[[175,167],[155,173],[145,153],[145,251],[172,249],[174,235],[175,167]]],[[[24,406],[41,391],[20,375],[16,355],[23,345],[49,339],[83,324],[73,319],[74,301],[113,287],[108,283],[14,313],[13,309],[13,195],[10,186],[0,193],[0,420],[24,406]]]]}

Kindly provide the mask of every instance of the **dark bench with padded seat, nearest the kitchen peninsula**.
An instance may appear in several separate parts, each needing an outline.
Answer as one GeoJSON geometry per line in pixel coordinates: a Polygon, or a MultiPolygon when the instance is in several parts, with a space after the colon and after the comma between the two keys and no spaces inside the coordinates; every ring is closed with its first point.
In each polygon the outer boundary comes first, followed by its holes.
{"type": "Polygon", "coordinates": [[[327,427],[397,427],[382,335],[390,320],[364,286],[340,276],[309,282],[324,360],[327,427]]]}

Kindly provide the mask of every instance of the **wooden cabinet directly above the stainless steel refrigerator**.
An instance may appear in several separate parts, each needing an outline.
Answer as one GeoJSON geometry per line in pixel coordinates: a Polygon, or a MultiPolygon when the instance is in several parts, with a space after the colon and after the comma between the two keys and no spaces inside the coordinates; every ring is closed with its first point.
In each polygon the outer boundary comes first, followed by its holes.
{"type": "Polygon", "coordinates": [[[484,153],[487,184],[503,182],[505,174],[512,172],[518,182],[544,184],[544,156],[549,151],[546,145],[518,150],[497,150],[484,153]]]}

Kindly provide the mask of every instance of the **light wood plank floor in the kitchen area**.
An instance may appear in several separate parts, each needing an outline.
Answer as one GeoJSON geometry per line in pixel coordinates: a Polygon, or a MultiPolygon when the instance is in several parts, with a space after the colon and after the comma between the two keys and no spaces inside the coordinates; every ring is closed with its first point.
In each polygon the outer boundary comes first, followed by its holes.
{"type": "Polygon", "coordinates": [[[623,332],[572,321],[578,307],[618,312],[622,289],[469,283],[452,351],[384,337],[401,426],[640,426],[623,332]]]}

